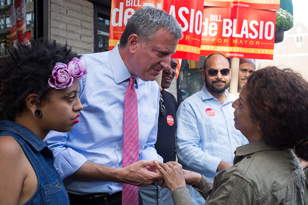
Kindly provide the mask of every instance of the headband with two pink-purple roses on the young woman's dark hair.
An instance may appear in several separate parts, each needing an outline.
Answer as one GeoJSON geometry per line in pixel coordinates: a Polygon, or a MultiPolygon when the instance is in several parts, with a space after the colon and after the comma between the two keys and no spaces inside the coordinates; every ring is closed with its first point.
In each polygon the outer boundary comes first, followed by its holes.
{"type": "Polygon", "coordinates": [[[48,79],[48,88],[63,89],[73,85],[74,78],[79,79],[88,73],[88,65],[83,58],[74,57],[68,64],[56,63],[52,77],[48,79]]]}

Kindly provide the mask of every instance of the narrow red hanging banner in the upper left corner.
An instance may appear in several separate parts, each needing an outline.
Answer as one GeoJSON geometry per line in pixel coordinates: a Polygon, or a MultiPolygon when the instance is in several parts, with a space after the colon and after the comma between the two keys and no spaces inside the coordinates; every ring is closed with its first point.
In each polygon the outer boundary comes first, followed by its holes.
{"type": "Polygon", "coordinates": [[[26,3],[25,0],[15,0],[16,31],[18,42],[23,42],[23,33],[26,31],[26,3]]]}

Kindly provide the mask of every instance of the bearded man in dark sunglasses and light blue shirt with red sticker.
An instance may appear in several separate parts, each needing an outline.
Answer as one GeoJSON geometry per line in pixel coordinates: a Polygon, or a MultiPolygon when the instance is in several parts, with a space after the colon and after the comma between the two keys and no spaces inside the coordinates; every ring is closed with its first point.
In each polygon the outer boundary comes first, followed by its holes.
{"type": "MultiPolygon", "coordinates": [[[[230,84],[230,66],[225,56],[209,55],[204,62],[202,90],[181,103],[177,112],[176,149],[183,169],[198,172],[210,180],[233,165],[234,151],[248,140],[234,127],[237,99],[226,91],[230,84]]],[[[194,204],[204,198],[188,186],[194,204]]]]}

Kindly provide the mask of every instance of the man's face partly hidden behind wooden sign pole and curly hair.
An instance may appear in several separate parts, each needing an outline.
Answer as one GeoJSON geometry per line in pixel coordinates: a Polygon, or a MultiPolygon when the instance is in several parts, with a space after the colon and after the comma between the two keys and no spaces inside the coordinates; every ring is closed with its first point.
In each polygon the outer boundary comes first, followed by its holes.
{"type": "Polygon", "coordinates": [[[238,93],[242,90],[247,77],[256,70],[256,63],[253,59],[240,58],[238,93]]]}

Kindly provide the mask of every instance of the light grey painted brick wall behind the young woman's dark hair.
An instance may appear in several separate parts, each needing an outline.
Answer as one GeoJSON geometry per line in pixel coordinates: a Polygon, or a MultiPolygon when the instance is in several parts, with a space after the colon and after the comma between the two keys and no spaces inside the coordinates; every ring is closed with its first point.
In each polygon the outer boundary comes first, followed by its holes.
{"type": "Polygon", "coordinates": [[[50,38],[78,54],[93,53],[93,12],[86,0],[50,0],[50,38]]]}

